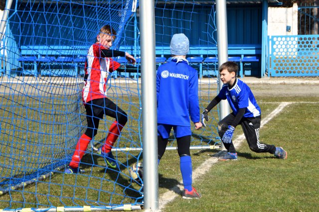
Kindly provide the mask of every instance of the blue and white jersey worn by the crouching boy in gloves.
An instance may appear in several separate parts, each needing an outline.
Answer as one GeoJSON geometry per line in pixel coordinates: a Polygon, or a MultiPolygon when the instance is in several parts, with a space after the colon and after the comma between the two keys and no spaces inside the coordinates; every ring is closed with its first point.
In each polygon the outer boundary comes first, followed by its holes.
{"type": "Polygon", "coordinates": [[[260,107],[250,88],[238,78],[231,89],[228,89],[228,84],[223,85],[218,97],[222,100],[227,99],[235,115],[238,113],[239,108],[246,108],[244,117],[257,117],[261,114],[260,107]]]}

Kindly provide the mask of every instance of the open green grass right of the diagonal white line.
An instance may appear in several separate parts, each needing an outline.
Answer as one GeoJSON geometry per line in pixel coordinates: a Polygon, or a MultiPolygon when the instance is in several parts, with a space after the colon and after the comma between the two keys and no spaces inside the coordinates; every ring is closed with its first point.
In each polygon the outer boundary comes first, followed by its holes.
{"type": "MultiPolygon", "coordinates": [[[[319,102],[319,98],[268,97],[258,101],[319,102]]],[[[277,105],[261,103],[263,117],[277,105]]],[[[218,162],[193,182],[201,199],[185,201],[179,195],[164,211],[317,211],[318,113],[318,104],[291,104],[260,130],[261,142],[282,146],[288,152],[287,160],[254,153],[244,141],[237,149],[238,161],[218,162]]],[[[192,155],[194,168],[211,157],[206,151],[193,151],[192,155]]],[[[161,166],[172,165],[162,161],[161,166]]],[[[179,175],[177,179],[180,181],[179,175]]]]}

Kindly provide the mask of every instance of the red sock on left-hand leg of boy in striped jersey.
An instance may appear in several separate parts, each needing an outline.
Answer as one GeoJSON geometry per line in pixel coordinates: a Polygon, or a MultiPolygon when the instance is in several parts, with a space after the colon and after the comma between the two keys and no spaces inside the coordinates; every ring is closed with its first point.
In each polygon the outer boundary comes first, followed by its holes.
{"type": "Polygon", "coordinates": [[[70,165],[72,168],[76,169],[79,167],[80,160],[82,159],[86,148],[88,148],[88,145],[92,138],[87,136],[86,134],[83,134],[81,138],[79,139],[78,143],[76,144],[75,151],[72,156],[72,160],[70,162],[70,165]]]}

